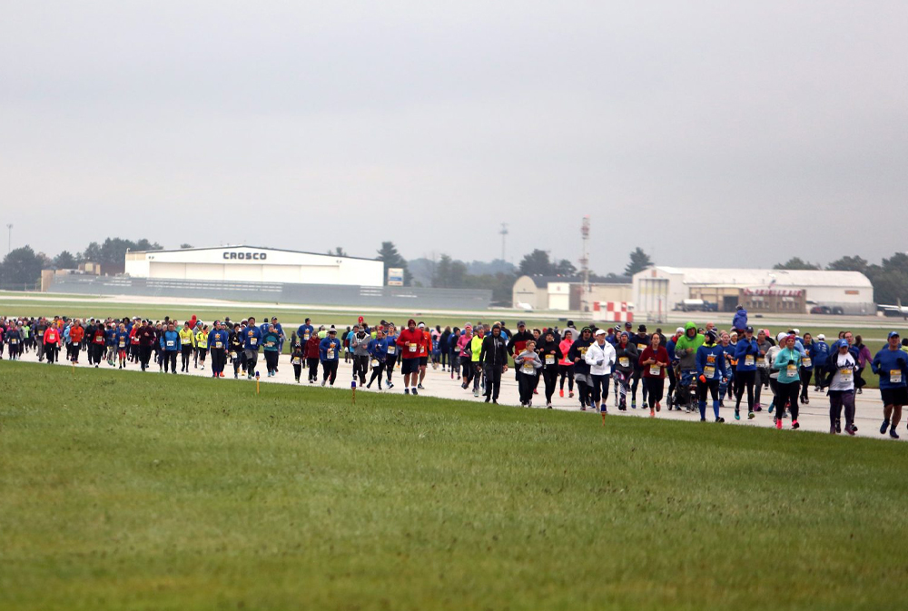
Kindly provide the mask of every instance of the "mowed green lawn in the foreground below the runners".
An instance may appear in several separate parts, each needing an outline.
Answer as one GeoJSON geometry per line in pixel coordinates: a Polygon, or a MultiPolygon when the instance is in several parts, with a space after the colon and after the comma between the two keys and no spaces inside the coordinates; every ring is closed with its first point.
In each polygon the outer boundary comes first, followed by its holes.
{"type": "Polygon", "coordinates": [[[0,361],[3,609],[882,609],[903,444],[0,361]]]}

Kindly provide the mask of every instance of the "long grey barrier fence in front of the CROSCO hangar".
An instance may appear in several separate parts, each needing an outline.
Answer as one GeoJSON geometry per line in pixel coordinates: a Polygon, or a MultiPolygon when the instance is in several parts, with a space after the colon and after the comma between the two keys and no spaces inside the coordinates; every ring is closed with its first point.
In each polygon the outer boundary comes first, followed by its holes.
{"type": "Polygon", "coordinates": [[[85,295],[182,297],[305,305],[402,308],[405,310],[485,310],[492,300],[492,291],[485,290],[77,275],[54,278],[50,291],[85,295]]]}

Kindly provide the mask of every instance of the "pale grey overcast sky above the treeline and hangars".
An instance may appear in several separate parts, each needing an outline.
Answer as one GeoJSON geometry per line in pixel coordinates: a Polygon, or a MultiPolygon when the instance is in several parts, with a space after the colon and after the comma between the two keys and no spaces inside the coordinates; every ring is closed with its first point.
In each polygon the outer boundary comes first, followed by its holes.
{"type": "Polygon", "coordinates": [[[6,3],[3,224],[469,261],[508,222],[509,261],[576,263],[588,214],[600,273],[905,250],[908,2],[606,4],[6,3]]]}

